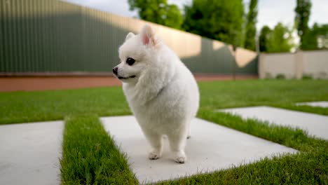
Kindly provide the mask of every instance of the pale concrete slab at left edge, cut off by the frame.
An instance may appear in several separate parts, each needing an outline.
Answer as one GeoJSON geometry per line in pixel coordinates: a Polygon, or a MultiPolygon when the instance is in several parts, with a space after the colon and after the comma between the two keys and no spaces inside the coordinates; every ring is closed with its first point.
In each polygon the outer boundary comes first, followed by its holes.
{"type": "Polygon", "coordinates": [[[0,125],[0,184],[60,184],[63,121],[0,125]]]}

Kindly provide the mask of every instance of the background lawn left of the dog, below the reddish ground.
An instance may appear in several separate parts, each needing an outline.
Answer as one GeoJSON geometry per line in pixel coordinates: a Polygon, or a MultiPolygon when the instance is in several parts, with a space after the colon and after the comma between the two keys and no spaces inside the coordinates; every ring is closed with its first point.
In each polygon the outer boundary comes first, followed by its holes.
{"type": "Polygon", "coordinates": [[[117,116],[130,114],[130,109],[119,87],[0,93],[0,124],[83,114],[117,116]]]}

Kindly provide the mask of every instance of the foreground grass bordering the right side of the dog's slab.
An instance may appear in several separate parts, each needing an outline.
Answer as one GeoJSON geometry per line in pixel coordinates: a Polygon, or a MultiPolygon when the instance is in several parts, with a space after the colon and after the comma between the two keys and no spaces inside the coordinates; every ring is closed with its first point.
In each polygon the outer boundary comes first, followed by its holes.
{"type": "Polygon", "coordinates": [[[220,112],[200,110],[200,118],[301,151],[296,155],[263,158],[228,170],[163,181],[159,184],[328,184],[328,142],[308,137],[299,129],[220,112]]]}

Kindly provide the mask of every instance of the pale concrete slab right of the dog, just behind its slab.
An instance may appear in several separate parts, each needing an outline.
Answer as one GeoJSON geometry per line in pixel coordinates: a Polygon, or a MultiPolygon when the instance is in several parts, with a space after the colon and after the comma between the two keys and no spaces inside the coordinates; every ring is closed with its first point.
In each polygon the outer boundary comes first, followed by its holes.
{"type": "Polygon", "coordinates": [[[328,139],[328,116],[265,106],[221,109],[219,111],[237,114],[245,119],[256,118],[277,125],[301,128],[308,131],[309,135],[328,139]]]}

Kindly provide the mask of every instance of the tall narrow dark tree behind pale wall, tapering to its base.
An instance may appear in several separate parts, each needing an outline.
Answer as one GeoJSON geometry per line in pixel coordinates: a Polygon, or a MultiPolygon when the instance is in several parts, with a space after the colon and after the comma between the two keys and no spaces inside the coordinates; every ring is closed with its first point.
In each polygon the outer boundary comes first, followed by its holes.
{"type": "Polygon", "coordinates": [[[295,8],[295,22],[297,24],[297,34],[301,38],[301,49],[305,47],[304,36],[308,32],[308,20],[310,18],[310,8],[311,2],[310,0],[297,0],[296,8],[295,8]]]}

